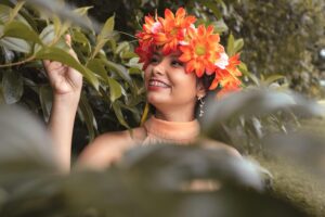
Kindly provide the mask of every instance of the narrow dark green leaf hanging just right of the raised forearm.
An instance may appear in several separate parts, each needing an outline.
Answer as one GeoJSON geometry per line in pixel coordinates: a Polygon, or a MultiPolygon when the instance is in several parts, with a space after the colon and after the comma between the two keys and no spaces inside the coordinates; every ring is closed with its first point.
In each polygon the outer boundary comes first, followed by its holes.
{"type": "Polygon", "coordinates": [[[96,129],[98,124],[96,124],[92,108],[88,102],[88,99],[87,99],[87,95],[84,94],[84,92],[81,93],[79,110],[82,114],[83,122],[86,123],[86,126],[87,126],[87,129],[88,129],[88,132],[90,136],[90,141],[92,141],[95,137],[94,127],[96,129]]]}

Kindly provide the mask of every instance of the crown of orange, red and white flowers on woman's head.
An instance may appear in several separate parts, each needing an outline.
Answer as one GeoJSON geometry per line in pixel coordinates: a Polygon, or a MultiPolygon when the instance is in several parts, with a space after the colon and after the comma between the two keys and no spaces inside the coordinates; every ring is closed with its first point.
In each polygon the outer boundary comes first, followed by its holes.
{"type": "Polygon", "coordinates": [[[164,55],[181,51],[179,60],[185,63],[186,73],[195,73],[197,77],[204,74],[214,75],[209,90],[221,86],[218,95],[239,89],[242,75],[237,65],[239,54],[231,58],[225,53],[220,42],[219,34],[213,34],[213,26],[194,26],[195,16],[186,15],[183,8],[176,14],[165,10],[165,18],[145,16],[142,31],[136,34],[139,47],[135,52],[140,56],[143,68],[150,64],[155,49],[160,48],[164,55]]]}

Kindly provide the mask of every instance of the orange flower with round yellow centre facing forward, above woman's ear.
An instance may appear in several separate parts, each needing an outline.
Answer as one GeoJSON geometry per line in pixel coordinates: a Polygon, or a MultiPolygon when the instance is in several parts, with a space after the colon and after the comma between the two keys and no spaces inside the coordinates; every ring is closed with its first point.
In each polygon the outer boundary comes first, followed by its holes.
{"type": "Polygon", "coordinates": [[[220,54],[224,51],[219,43],[220,37],[213,34],[213,26],[198,26],[197,30],[187,28],[190,37],[188,44],[180,46],[182,55],[180,61],[186,63],[186,73],[195,71],[198,77],[202,77],[205,72],[213,73],[216,69],[214,62],[220,59],[220,54]]]}

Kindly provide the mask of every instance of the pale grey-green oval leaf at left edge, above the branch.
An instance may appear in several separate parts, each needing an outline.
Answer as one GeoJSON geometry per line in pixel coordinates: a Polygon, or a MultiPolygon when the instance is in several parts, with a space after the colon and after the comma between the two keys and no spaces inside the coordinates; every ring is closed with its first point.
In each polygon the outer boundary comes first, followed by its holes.
{"type": "Polygon", "coordinates": [[[31,50],[30,44],[23,39],[5,37],[0,40],[0,44],[11,51],[17,51],[22,53],[29,53],[31,50]]]}

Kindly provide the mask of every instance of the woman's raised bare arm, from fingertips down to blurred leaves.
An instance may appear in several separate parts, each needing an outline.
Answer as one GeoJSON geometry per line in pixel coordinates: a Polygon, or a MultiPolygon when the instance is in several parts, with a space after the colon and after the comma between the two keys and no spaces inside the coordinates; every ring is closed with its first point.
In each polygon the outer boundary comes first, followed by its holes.
{"type": "MultiPolygon", "coordinates": [[[[68,46],[70,41],[70,36],[66,36],[68,46]]],[[[73,49],[69,53],[77,59],[73,49]]],[[[44,61],[44,67],[53,89],[49,130],[55,145],[54,154],[62,170],[67,173],[70,168],[73,128],[82,88],[82,75],[55,61],[44,61]]]]}

